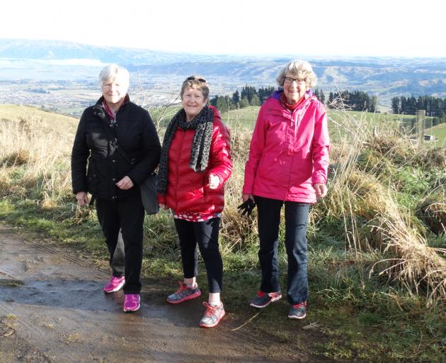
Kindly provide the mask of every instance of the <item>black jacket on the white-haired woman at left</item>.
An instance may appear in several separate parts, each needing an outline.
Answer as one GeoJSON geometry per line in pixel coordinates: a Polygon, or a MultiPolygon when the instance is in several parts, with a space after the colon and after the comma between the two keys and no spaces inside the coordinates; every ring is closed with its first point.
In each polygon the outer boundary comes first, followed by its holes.
{"type": "Polygon", "coordinates": [[[103,97],[95,106],[85,109],[79,121],[72,150],[73,193],[88,191],[94,197],[117,199],[139,193],[142,184],[158,167],[161,145],[149,112],[126,101],[116,113],[115,134],[119,146],[133,161],[129,164],[113,143],[113,133],[102,106],[103,97]],[[130,177],[131,189],[122,190],[115,184],[130,177]]]}

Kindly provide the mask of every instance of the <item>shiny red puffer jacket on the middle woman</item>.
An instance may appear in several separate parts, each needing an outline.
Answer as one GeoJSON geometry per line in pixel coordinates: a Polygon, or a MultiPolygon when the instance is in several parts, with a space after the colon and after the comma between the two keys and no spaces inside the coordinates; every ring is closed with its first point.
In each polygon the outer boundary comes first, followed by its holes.
{"type": "Polygon", "coordinates": [[[214,129],[209,162],[205,172],[190,168],[190,147],[195,130],[178,128],[168,152],[168,183],[166,194],[159,194],[159,203],[175,212],[221,213],[224,206],[224,183],[232,172],[229,131],[219,111],[214,112],[214,129]],[[209,174],[219,177],[217,189],[210,189],[209,174]]]}

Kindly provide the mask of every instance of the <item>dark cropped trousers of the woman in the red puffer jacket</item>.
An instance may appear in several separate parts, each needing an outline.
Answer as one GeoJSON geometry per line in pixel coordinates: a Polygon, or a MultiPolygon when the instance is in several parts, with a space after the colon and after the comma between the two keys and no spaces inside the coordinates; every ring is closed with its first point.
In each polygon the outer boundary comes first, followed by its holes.
{"type": "Polygon", "coordinates": [[[212,218],[205,222],[190,222],[175,219],[175,227],[180,239],[181,261],[185,279],[198,275],[198,252],[205,262],[207,284],[211,294],[222,291],[223,262],[218,247],[220,218],[212,218]]]}

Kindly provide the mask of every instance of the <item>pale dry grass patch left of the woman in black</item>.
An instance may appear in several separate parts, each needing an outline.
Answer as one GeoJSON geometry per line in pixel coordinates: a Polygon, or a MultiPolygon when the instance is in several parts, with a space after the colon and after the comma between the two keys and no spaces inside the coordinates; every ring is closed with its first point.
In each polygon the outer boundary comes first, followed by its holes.
{"type": "Polygon", "coordinates": [[[18,186],[35,190],[45,205],[56,201],[71,189],[69,157],[72,133],[48,128],[42,118],[0,122],[0,161],[4,174],[1,189],[17,191],[18,186]],[[6,183],[7,181],[7,183],[6,183]]]}

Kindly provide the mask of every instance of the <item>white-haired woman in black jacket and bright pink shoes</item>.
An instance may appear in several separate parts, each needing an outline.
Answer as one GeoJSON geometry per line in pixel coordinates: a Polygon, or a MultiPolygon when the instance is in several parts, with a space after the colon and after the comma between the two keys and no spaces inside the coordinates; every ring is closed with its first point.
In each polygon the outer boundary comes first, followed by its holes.
{"type": "Polygon", "coordinates": [[[96,201],[112,269],[103,290],[123,287],[124,311],[137,311],[144,222],[139,185],[158,167],[161,145],[147,110],[130,102],[129,80],[118,65],[99,74],[102,96],[82,113],[74,138],[72,186],[79,206],[88,204],[87,193],[96,201]]]}

